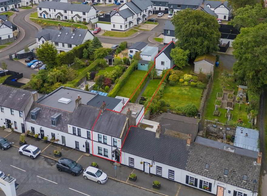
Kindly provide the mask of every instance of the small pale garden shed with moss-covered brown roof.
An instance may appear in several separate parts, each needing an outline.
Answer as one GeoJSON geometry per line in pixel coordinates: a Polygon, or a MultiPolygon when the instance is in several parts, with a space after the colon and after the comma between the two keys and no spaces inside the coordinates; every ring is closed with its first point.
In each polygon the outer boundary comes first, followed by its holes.
{"type": "Polygon", "coordinates": [[[194,73],[211,74],[216,62],[216,57],[212,54],[204,54],[197,56],[194,61],[194,73]]]}

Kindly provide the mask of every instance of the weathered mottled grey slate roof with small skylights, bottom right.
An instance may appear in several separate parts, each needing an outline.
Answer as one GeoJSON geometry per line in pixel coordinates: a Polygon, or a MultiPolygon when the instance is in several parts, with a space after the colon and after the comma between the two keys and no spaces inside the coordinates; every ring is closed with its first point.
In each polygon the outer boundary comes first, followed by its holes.
{"type": "MultiPolygon", "coordinates": [[[[196,142],[191,143],[190,147],[186,170],[248,190],[253,190],[254,179],[259,182],[260,165],[254,164],[256,158],[204,146],[196,142]],[[209,164],[208,171],[205,170],[206,163],[209,164]],[[228,170],[227,177],[224,176],[225,169],[228,170]],[[245,182],[242,181],[243,175],[247,175],[247,181],[245,182]]],[[[259,184],[255,186],[256,192],[258,192],[258,186],[259,184]]]]}

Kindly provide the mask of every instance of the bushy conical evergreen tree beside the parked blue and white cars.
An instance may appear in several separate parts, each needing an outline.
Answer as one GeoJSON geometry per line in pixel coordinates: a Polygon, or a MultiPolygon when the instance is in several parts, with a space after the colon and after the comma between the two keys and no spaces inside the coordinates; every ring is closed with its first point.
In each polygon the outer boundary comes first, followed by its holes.
{"type": "Polygon", "coordinates": [[[45,42],[41,45],[41,48],[37,49],[37,56],[44,64],[46,64],[46,69],[51,69],[55,66],[56,56],[57,56],[56,46],[45,42]]]}

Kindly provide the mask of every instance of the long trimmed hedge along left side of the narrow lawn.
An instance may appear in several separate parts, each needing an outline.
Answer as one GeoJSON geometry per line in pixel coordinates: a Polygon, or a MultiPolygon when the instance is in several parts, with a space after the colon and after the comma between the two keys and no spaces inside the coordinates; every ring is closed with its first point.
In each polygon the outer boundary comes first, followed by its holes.
{"type": "Polygon", "coordinates": [[[109,97],[116,97],[120,89],[123,87],[127,79],[130,77],[130,74],[134,71],[134,68],[137,66],[138,61],[132,60],[131,65],[128,67],[128,69],[122,74],[117,84],[114,86],[112,91],[108,94],[109,97]]]}

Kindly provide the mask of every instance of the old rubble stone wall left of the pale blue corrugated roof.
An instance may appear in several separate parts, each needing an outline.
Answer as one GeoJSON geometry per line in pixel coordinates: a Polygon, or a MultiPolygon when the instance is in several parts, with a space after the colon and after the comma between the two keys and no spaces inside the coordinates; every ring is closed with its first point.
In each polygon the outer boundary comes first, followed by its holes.
{"type": "Polygon", "coordinates": [[[226,136],[235,136],[235,129],[235,127],[227,126],[220,122],[205,120],[203,136],[208,137],[209,134],[215,134],[218,139],[223,139],[223,134],[226,134],[226,136]],[[216,127],[213,125],[216,125],[216,127]],[[227,130],[226,128],[230,128],[230,130],[227,130]]]}

